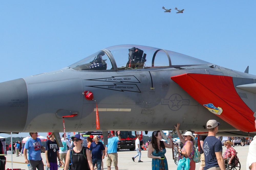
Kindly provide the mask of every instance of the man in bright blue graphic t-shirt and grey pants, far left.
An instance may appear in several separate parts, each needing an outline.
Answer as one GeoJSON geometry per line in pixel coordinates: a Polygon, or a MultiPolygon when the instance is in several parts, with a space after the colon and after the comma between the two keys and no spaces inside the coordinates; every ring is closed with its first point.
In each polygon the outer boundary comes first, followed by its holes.
{"type": "Polygon", "coordinates": [[[44,163],[41,157],[41,150],[45,152],[45,148],[42,146],[40,138],[37,137],[37,132],[30,132],[30,138],[25,143],[24,146],[24,157],[25,162],[32,166],[32,170],[44,170],[44,163]],[[27,158],[28,150],[28,158],[27,158]]]}

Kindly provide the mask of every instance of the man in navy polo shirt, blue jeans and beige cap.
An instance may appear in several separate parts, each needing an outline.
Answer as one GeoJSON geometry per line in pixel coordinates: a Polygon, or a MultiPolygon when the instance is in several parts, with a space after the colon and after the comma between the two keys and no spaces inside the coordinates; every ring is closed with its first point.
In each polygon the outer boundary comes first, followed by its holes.
{"type": "Polygon", "coordinates": [[[98,136],[93,137],[94,142],[90,145],[90,152],[92,154],[92,165],[93,167],[95,164],[97,165],[97,169],[101,170],[101,162],[105,156],[105,147],[98,136]]]}

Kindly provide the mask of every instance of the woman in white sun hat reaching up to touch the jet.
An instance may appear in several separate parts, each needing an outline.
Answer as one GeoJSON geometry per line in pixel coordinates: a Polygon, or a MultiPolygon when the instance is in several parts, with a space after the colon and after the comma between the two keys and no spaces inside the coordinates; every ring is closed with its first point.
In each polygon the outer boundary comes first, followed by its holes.
{"type": "Polygon", "coordinates": [[[179,152],[179,160],[183,159],[183,158],[189,158],[190,160],[190,168],[189,170],[195,170],[196,169],[196,163],[193,161],[193,157],[194,157],[194,152],[195,152],[195,148],[194,148],[194,139],[195,137],[193,136],[192,132],[187,131],[185,134],[180,134],[179,132],[179,126],[180,124],[177,123],[177,126],[174,126],[177,134],[179,136],[179,139],[182,143],[184,143],[184,146],[182,149],[179,149],[178,146],[178,152],[179,152]]]}

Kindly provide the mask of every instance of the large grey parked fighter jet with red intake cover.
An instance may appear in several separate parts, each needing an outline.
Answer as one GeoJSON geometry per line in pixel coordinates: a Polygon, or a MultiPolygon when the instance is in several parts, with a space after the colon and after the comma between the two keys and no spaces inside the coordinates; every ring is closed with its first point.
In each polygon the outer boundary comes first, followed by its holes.
{"type": "Polygon", "coordinates": [[[141,45],[102,49],[68,67],[0,83],[1,132],[254,132],[256,76],[141,45]],[[98,110],[98,117],[96,111],[98,110]],[[97,117],[97,120],[96,120],[97,117]],[[10,123],[12,122],[12,123],[10,123]],[[14,124],[15,125],[14,125],[14,124]],[[241,130],[237,131],[237,130],[241,130]]]}

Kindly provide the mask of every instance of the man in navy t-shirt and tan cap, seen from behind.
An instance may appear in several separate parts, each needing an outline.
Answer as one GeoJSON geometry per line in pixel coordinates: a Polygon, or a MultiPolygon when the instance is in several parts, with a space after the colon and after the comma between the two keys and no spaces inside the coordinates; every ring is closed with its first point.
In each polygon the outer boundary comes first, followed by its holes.
{"type": "Polygon", "coordinates": [[[216,120],[209,120],[207,122],[208,136],[204,140],[203,150],[205,156],[205,167],[206,169],[225,170],[225,164],[222,157],[222,144],[217,139],[216,133],[218,132],[220,123],[216,120]]]}

